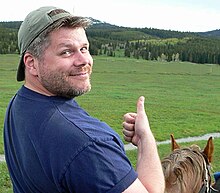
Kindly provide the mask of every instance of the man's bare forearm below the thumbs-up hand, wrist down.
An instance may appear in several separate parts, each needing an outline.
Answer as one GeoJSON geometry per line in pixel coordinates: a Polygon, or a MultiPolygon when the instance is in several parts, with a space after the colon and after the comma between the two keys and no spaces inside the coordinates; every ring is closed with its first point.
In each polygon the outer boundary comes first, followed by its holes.
{"type": "Polygon", "coordinates": [[[157,145],[151,131],[138,143],[138,178],[151,193],[164,192],[164,176],[158,156],[157,145]]]}

